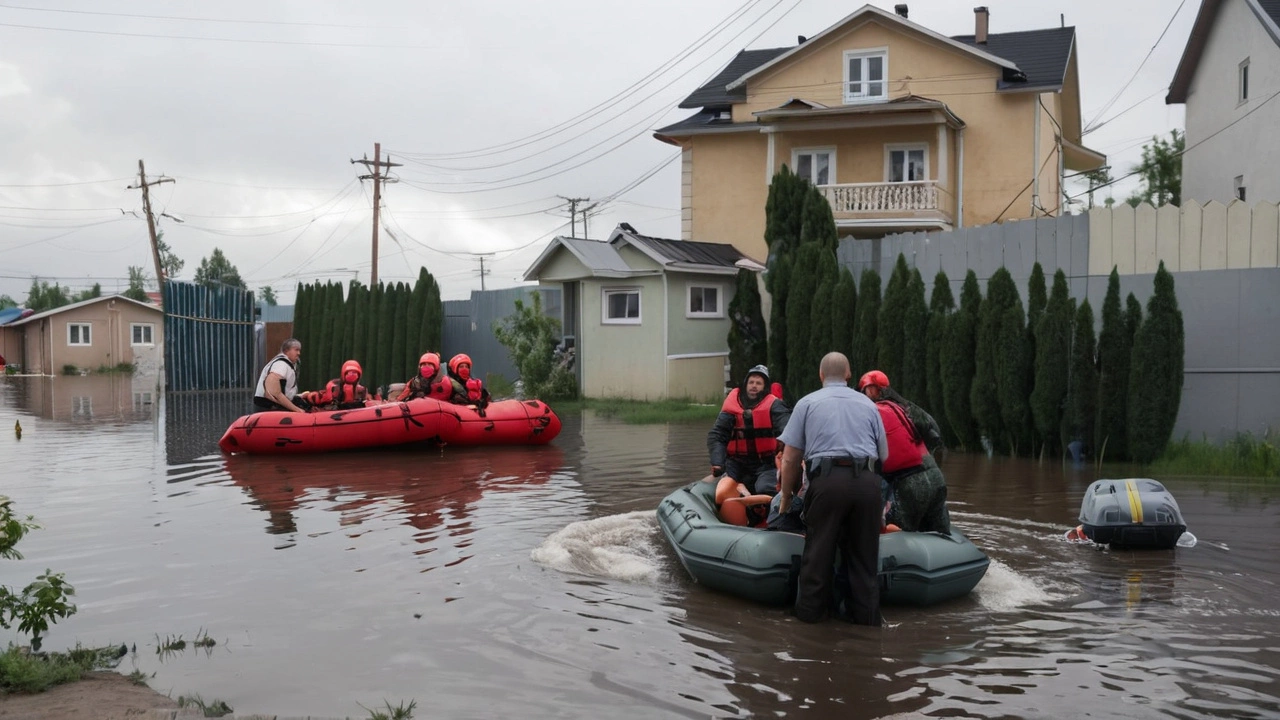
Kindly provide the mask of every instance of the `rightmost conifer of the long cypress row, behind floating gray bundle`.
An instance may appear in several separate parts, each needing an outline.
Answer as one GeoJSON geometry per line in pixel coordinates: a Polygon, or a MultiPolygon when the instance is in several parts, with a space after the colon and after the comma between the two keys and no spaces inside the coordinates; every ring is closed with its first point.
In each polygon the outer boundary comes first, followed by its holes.
{"type": "Polygon", "coordinates": [[[1129,451],[1137,462],[1151,462],[1165,452],[1183,400],[1183,313],[1174,293],[1174,275],[1164,261],[1156,270],[1155,286],[1147,318],[1133,338],[1129,451]]]}

